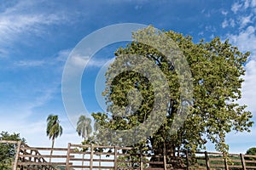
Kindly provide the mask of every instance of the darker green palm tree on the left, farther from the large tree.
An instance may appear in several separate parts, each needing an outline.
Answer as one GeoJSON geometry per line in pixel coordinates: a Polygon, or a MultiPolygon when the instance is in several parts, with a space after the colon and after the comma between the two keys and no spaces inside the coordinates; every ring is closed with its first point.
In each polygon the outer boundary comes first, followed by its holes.
{"type": "Polygon", "coordinates": [[[47,117],[47,128],[46,134],[49,136],[49,139],[52,140],[49,162],[51,162],[51,156],[53,152],[53,148],[55,145],[55,139],[61,136],[63,129],[60,125],[59,117],[57,115],[49,115],[47,117]]]}

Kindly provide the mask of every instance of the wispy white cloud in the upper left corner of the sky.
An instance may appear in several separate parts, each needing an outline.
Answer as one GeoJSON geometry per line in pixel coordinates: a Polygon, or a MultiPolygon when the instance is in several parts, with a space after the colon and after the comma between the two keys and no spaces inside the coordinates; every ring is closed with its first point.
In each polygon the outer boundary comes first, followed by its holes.
{"type": "Polygon", "coordinates": [[[25,35],[41,37],[47,32],[44,26],[58,25],[71,20],[67,14],[58,11],[53,14],[48,10],[39,10],[38,7],[42,3],[44,1],[18,1],[0,12],[0,52],[3,51],[7,55],[8,51],[5,48],[21,40],[25,35]]]}

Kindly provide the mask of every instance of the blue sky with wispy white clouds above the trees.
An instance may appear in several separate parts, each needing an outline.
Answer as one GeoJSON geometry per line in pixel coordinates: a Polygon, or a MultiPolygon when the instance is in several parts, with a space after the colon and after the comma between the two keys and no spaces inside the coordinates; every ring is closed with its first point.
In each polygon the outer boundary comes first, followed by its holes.
{"type": "MultiPolygon", "coordinates": [[[[256,115],[255,20],[256,0],[0,0],[0,131],[20,133],[30,145],[49,146],[46,117],[58,114],[64,134],[56,145],[80,143],[61,99],[65,61],[92,31],[127,22],[189,34],[195,42],[229,38],[242,52],[251,51],[239,102],[256,115]]],[[[101,111],[94,80],[118,45],[99,51],[84,73],[81,88],[89,112],[101,111]]],[[[256,146],[255,139],[256,125],[252,133],[231,133],[227,142],[231,152],[244,153],[256,146]]]]}

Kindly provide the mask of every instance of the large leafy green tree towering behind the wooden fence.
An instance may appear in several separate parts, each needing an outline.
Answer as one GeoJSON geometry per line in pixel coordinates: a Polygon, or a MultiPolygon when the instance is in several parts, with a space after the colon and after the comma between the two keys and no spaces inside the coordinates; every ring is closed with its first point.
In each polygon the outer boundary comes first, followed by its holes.
{"type": "MultiPolygon", "coordinates": [[[[183,36],[174,31],[157,31],[152,26],[134,32],[133,38],[133,42],[115,52],[116,58],[106,73],[106,89],[103,95],[107,100],[108,113],[92,114],[102,127],[114,130],[131,129],[148,119],[155,104],[159,108],[167,106],[166,119],[154,134],[150,134],[141,143],[154,153],[162,153],[163,148],[200,150],[205,148],[208,141],[215,144],[216,150],[226,152],[229,149],[225,142],[227,133],[232,130],[250,131],[249,127],[253,125],[252,114],[245,111],[246,105],[237,103],[237,99],[241,99],[241,82],[245,74],[244,65],[249,56],[248,52],[241,53],[229,40],[222,42],[219,37],[213,38],[210,42],[201,40],[195,43],[190,36],[183,36]],[[168,37],[172,41],[156,41],[162,37],[168,37]],[[142,39],[151,42],[161,51],[147,42],[143,43],[142,39]],[[171,44],[173,42],[174,45],[171,44]],[[180,88],[183,82],[180,79],[186,75],[178,75],[177,72],[181,71],[180,65],[175,63],[175,59],[170,60],[166,57],[164,52],[168,51],[168,45],[179,48],[189,65],[193,83],[193,94],[189,100],[181,99],[180,88]],[[148,79],[147,73],[143,75],[137,71],[122,71],[117,75],[117,65],[138,65],[140,68],[145,67],[149,74],[150,69],[143,62],[125,61],[124,55],[130,58],[132,55],[140,55],[154,63],[159,69],[158,74],[163,74],[168,83],[170,99],[166,104],[157,103],[154,96],[157,90],[166,89],[148,79]],[[184,117],[183,126],[179,127],[176,133],[172,133],[180,105],[188,106],[187,116],[184,117]]],[[[172,51],[173,48],[169,50],[172,51]]],[[[172,57],[175,58],[175,53],[172,57]]],[[[152,71],[150,74],[157,76],[152,71]]],[[[154,128],[154,125],[152,126],[154,128]]],[[[108,140],[109,135],[109,131],[102,130],[97,139],[107,144],[118,144],[115,140],[121,141],[122,137],[108,140]]]]}

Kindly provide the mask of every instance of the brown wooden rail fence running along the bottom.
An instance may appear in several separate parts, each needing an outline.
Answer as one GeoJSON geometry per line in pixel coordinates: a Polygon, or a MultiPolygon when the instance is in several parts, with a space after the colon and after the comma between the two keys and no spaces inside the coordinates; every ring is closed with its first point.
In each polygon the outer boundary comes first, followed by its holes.
{"type": "MultiPolygon", "coordinates": [[[[0,143],[8,141],[0,141],[0,143]]],[[[10,142],[10,141],[9,141],[10,142]]],[[[68,144],[67,148],[29,147],[16,144],[15,170],[38,169],[255,169],[256,156],[229,154],[228,158],[215,152],[176,152],[175,156],[145,154],[131,147],[68,144]],[[49,158],[51,157],[51,162],[49,158]],[[182,165],[182,166],[181,166],[182,165]]]]}

